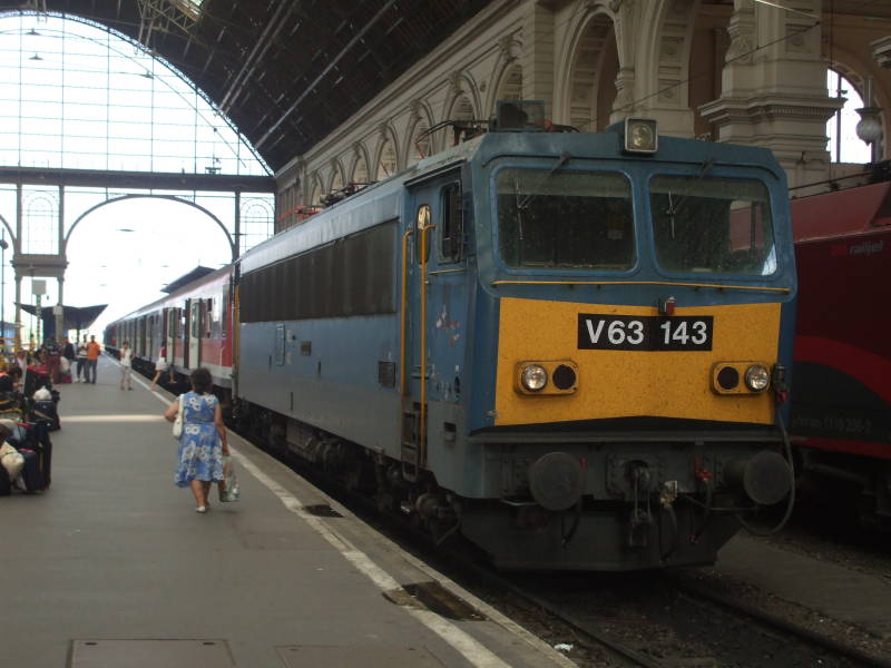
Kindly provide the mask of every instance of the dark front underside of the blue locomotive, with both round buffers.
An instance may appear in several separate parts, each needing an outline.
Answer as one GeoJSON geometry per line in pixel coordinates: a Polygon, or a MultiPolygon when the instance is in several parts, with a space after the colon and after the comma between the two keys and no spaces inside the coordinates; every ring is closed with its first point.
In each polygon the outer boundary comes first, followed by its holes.
{"type": "Polygon", "coordinates": [[[787,497],[791,471],[775,445],[489,444],[489,459],[500,455],[502,499],[466,510],[461,532],[500,568],[711,563],[738,518],[787,497]]]}

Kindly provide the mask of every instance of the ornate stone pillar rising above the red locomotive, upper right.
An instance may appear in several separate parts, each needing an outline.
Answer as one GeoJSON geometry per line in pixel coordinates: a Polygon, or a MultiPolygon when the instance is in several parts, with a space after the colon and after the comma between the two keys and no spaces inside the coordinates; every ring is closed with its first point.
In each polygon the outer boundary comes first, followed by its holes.
{"type": "Polygon", "coordinates": [[[826,121],[841,106],[826,91],[820,0],[785,11],[734,0],[722,95],[699,107],[718,139],[773,149],[790,186],[829,177],[826,121]]]}

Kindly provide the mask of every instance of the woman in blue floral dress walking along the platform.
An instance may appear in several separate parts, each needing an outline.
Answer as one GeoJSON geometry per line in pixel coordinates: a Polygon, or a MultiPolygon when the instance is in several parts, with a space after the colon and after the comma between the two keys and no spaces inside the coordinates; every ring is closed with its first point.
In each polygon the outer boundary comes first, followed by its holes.
{"type": "MultiPolygon", "coordinates": [[[[174,482],[192,489],[195,512],[203,513],[207,511],[210,484],[223,480],[223,455],[229,453],[229,445],[219,400],[210,394],[210,372],[196,369],[189,380],[192,392],[183,395],[183,433],[174,482]]],[[[178,411],[177,397],[167,406],[164,416],[174,422],[178,411]]]]}

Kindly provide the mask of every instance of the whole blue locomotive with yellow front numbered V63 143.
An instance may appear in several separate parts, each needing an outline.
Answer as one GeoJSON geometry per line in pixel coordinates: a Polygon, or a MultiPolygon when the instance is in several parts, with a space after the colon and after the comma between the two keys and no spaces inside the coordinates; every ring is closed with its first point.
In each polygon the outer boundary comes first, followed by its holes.
{"type": "Polygon", "coordinates": [[[501,568],[712,562],[792,485],[784,173],[510,109],[238,261],[241,422],[501,568]]]}

